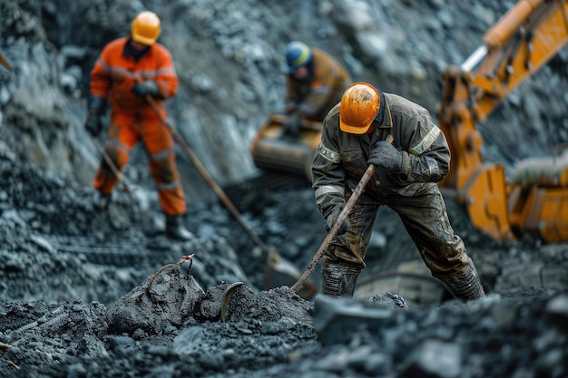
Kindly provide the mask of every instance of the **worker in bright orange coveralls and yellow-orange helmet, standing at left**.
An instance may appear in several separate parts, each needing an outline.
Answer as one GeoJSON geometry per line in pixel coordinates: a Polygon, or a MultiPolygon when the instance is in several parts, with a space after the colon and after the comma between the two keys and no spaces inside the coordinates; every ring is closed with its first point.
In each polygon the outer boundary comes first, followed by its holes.
{"type": "MultiPolygon", "coordinates": [[[[129,36],[104,46],[91,71],[85,127],[95,138],[101,133],[108,99],[111,118],[105,152],[116,169],[122,171],[129,152],[142,141],[166,216],[166,233],[189,239],[191,233],[182,225],[186,203],[175,164],[173,138],[145,99],[147,95],[152,96],[165,119],[164,101],[178,89],[179,79],[171,54],[156,42],[160,32],[160,19],[146,11],[134,18],[129,36]]],[[[97,190],[95,206],[106,208],[117,181],[112,167],[102,160],[93,179],[97,190]]]]}

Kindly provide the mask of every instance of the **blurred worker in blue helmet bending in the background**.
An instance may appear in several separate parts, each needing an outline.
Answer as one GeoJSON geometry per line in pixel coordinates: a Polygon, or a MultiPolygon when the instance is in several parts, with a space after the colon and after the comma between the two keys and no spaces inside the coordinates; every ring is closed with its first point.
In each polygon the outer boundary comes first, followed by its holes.
{"type": "Polygon", "coordinates": [[[302,120],[321,122],[339,102],[351,83],[348,71],[337,60],[302,42],[286,46],[285,132],[295,135],[302,120]]]}

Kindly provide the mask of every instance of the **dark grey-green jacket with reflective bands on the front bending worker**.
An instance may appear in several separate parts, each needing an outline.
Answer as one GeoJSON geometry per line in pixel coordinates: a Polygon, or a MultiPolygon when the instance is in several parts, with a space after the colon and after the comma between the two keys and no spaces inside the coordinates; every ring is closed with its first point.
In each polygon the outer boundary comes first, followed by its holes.
{"type": "Polygon", "coordinates": [[[367,170],[376,141],[391,134],[402,152],[400,172],[388,174],[377,167],[366,194],[382,203],[393,196],[416,196],[444,179],[450,169],[450,150],[444,133],[422,106],[396,94],[385,94],[382,124],[372,134],[351,134],[339,129],[339,104],[323,122],[321,141],[312,163],[312,188],[322,215],[345,202],[345,189],[355,189],[367,170]]]}

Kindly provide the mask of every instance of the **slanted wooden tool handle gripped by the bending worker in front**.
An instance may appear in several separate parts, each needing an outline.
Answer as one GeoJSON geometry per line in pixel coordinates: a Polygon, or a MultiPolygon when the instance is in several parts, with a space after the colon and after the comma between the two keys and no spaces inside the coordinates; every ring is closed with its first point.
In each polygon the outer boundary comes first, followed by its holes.
{"type": "MultiPolygon", "coordinates": [[[[388,135],[387,141],[390,143],[393,142],[392,135],[388,135]]],[[[370,164],[368,166],[367,170],[363,174],[363,177],[360,179],[359,183],[357,184],[357,187],[355,188],[355,190],[353,190],[353,194],[348,199],[348,203],[345,205],[345,208],[343,208],[343,210],[341,210],[341,212],[339,213],[338,220],[336,220],[333,227],[329,230],[328,236],[324,239],[323,243],[318,248],[318,252],[316,252],[316,255],[314,255],[314,257],[309,262],[306,271],[304,271],[304,273],[299,277],[298,281],[296,281],[296,283],[290,287],[290,289],[292,289],[296,294],[301,292],[304,285],[306,284],[308,276],[311,275],[311,273],[314,271],[314,268],[316,267],[316,265],[318,265],[319,259],[328,249],[329,244],[331,243],[333,238],[337,235],[338,229],[341,227],[345,219],[348,218],[349,212],[357,202],[357,199],[359,199],[359,197],[361,196],[361,193],[363,193],[363,190],[367,186],[368,180],[371,179],[371,177],[373,177],[375,169],[376,166],[374,164],[370,164]]]]}

